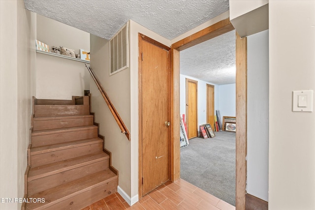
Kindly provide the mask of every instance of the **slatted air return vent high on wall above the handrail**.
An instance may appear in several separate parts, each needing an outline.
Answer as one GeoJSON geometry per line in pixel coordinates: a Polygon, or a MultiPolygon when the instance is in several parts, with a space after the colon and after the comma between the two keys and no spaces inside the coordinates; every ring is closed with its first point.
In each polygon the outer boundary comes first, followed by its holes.
{"type": "Polygon", "coordinates": [[[128,67],[128,23],[110,40],[110,72],[115,74],[128,67]]]}

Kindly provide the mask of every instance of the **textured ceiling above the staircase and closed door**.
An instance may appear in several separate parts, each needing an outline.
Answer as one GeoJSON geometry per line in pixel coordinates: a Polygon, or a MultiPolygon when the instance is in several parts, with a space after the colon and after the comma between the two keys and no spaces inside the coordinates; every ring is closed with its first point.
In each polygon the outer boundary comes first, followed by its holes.
{"type": "Polygon", "coordinates": [[[24,0],[28,10],[110,39],[129,19],[173,39],[229,8],[228,0],[24,0]]]}

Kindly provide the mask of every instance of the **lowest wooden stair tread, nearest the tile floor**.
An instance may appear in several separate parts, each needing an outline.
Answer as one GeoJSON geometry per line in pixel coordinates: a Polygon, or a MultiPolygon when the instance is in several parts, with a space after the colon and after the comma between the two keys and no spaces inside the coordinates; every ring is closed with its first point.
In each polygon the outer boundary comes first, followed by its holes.
{"type": "Polygon", "coordinates": [[[115,179],[118,179],[117,175],[115,175],[110,169],[106,169],[78,180],[67,182],[33,195],[29,195],[29,198],[44,198],[45,203],[28,203],[26,205],[26,209],[34,210],[48,208],[54,204],[115,179]]]}

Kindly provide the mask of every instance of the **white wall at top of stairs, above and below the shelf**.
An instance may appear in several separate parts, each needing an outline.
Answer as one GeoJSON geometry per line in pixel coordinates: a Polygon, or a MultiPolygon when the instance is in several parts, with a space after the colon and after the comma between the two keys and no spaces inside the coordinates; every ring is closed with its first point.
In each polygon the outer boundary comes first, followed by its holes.
{"type": "MultiPolygon", "coordinates": [[[[90,50],[90,33],[37,14],[36,39],[80,53],[90,50]]],[[[71,99],[90,89],[90,77],[83,62],[37,53],[36,98],[71,99]]]]}

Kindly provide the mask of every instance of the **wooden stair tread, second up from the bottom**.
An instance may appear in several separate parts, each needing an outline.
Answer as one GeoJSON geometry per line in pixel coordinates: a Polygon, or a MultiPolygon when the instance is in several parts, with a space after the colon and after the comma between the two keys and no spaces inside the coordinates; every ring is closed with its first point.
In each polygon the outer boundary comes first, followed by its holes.
{"type": "Polygon", "coordinates": [[[74,168],[85,166],[91,163],[99,162],[109,159],[109,155],[105,152],[99,152],[96,154],[88,154],[80,157],[75,157],[55,163],[37,166],[31,168],[29,171],[28,181],[40,179],[42,177],[50,176],[53,174],[68,171],[74,168]]]}

